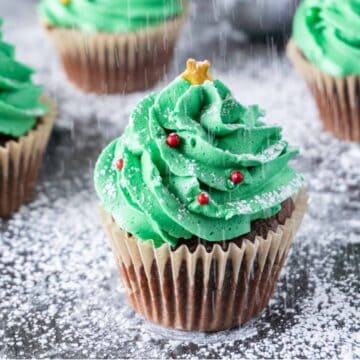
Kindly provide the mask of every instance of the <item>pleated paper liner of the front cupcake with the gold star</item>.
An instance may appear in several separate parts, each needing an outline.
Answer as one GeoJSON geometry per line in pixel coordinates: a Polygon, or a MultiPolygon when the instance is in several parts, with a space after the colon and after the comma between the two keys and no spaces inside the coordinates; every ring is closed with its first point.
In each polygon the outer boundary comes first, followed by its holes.
{"type": "Polygon", "coordinates": [[[148,320],[182,330],[218,331],[243,324],[268,304],[293,237],[306,210],[301,190],[295,210],[266,238],[231,243],[210,252],[199,245],[154,248],[119,229],[101,209],[101,219],[131,306],[148,320]]]}

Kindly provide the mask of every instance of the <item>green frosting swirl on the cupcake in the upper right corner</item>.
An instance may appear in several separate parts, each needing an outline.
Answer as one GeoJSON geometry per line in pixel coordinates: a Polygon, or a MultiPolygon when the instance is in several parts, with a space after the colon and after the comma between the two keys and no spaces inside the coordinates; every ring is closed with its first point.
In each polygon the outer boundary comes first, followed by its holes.
{"type": "Polygon", "coordinates": [[[360,1],[305,0],[293,40],[305,57],[332,76],[360,74],[360,1]]]}

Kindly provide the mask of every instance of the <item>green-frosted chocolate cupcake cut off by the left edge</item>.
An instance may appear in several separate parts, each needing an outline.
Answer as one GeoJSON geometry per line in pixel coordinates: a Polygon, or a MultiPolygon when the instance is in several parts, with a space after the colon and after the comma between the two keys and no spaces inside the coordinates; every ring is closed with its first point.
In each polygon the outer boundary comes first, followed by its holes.
{"type": "Polygon", "coordinates": [[[1,26],[0,19],[0,217],[7,217],[33,194],[54,116],[1,26]]]}

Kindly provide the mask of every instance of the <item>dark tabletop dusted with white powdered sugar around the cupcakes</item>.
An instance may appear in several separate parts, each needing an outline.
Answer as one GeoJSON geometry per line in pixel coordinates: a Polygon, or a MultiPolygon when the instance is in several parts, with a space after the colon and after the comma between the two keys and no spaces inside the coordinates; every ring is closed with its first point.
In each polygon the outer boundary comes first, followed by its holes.
{"type": "Polygon", "coordinates": [[[283,55],[234,42],[239,37],[224,24],[220,35],[209,28],[194,38],[204,18],[182,34],[163,84],[188,56],[212,60],[212,74],[243,104],[266,109],[266,121],[281,125],[284,139],[300,148],[293,164],[304,174],[310,204],[259,318],[215,334],[170,331],[127,306],[93,190],[100,151],[121,134],[144,94],[74,90],[36,24],[35,2],[18,0],[19,11],[13,3],[1,5],[5,38],[38,69],[60,115],[34,200],[0,221],[0,358],[360,358],[360,149],[322,131],[311,96],[283,55]]]}

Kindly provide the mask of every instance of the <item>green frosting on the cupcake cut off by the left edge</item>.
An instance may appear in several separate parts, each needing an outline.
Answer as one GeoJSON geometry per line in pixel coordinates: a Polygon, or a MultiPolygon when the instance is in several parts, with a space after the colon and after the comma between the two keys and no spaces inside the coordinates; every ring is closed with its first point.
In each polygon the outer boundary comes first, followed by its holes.
{"type": "Polygon", "coordinates": [[[31,81],[33,70],[14,59],[14,47],[3,41],[0,18],[0,134],[18,138],[47,112],[42,87],[31,81]]]}

